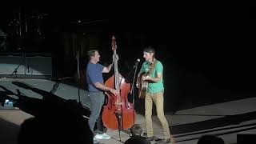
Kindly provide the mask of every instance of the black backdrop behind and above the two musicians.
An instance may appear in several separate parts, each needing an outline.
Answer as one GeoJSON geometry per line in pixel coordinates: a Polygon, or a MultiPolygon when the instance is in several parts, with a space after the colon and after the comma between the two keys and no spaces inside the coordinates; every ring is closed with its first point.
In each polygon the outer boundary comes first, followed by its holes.
{"type": "MultiPolygon", "coordinates": [[[[134,76],[136,59],[143,60],[142,49],[155,46],[156,57],[164,66],[166,111],[254,97],[254,7],[115,8],[10,6],[2,9],[1,29],[9,34],[11,52],[53,54],[54,77],[76,72],[74,54],[65,52],[65,34],[82,34],[85,51],[100,50],[104,65],[111,62],[110,38],[114,34],[120,58],[118,68],[128,82],[134,76]],[[19,13],[21,20],[17,20],[19,13]],[[19,38],[14,30],[22,19],[28,20],[30,26],[26,32],[22,24],[19,38]],[[37,26],[42,30],[39,36],[37,26]],[[18,45],[22,49],[17,49],[18,45]]],[[[83,55],[82,68],[86,62],[83,55]]],[[[105,78],[111,74],[113,71],[105,78]]],[[[138,110],[143,111],[141,102],[136,98],[138,110]]]]}

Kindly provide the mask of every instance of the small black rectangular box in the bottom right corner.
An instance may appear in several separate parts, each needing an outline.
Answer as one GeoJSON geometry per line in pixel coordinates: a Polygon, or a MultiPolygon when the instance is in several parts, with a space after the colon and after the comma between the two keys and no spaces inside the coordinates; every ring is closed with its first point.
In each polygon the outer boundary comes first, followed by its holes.
{"type": "Polygon", "coordinates": [[[256,143],[256,134],[237,134],[237,144],[256,143]]]}

